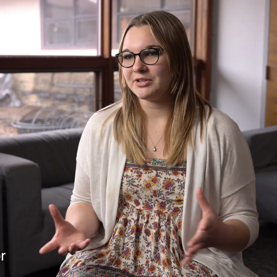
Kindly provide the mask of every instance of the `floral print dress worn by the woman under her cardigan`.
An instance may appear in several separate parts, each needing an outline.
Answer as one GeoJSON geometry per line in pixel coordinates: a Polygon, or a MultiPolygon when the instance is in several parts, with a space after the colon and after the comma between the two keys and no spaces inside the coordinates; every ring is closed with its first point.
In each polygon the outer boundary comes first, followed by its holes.
{"type": "Polygon", "coordinates": [[[57,277],[217,277],[200,263],[181,264],[186,161],[170,170],[165,161],[126,161],[110,240],[73,256],[57,277]]]}

